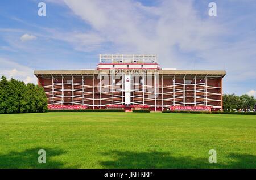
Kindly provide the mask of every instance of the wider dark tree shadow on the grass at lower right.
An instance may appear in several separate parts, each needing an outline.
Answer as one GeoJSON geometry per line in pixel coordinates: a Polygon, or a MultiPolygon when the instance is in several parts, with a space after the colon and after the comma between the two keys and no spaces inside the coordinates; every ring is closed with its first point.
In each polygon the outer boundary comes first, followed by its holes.
{"type": "Polygon", "coordinates": [[[100,162],[104,168],[256,168],[254,155],[230,154],[225,164],[218,162],[218,157],[216,164],[210,164],[208,157],[174,157],[166,152],[110,151],[104,155],[113,158],[100,162]]]}

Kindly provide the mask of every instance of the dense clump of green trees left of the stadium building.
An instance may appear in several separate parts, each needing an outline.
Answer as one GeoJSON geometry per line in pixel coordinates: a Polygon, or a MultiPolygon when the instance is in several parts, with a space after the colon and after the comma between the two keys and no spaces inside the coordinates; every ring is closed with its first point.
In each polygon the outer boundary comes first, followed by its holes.
{"type": "Polygon", "coordinates": [[[38,85],[8,81],[2,76],[0,81],[0,113],[36,113],[47,111],[44,89],[38,85]]]}

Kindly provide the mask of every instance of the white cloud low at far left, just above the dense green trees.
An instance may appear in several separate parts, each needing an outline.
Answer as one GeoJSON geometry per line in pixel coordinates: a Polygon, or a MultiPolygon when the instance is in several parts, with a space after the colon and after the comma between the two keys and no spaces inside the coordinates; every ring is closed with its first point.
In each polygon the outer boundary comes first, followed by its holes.
{"type": "Polygon", "coordinates": [[[37,79],[34,74],[34,71],[24,65],[20,65],[19,63],[15,63],[10,59],[0,58],[0,72],[1,76],[5,75],[7,79],[18,79],[24,81],[24,83],[34,83],[36,84],[37,79]]]}

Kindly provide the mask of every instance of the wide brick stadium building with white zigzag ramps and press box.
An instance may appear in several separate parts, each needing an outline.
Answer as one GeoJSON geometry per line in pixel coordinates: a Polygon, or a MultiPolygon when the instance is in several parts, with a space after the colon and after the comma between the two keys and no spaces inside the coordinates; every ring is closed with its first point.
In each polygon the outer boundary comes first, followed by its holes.
{"type": "Polygon", "coordinates": [[[50,109],[222,110],[225,74],[162,69],[155,54],[100,54],[96,69],[35,71],[50,109]]]}

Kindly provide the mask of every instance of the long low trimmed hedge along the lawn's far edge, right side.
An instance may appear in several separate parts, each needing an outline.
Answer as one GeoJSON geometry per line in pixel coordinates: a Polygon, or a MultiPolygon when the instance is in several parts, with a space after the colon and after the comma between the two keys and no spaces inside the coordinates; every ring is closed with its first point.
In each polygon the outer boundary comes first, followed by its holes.
{"type": "Polygon", "coordinates": [[[190,114],[241,114],[241,115],[256,115],[256,112],[196,112],[196,111],[172,111],[163,110],[162,113],[190,113],[190,114]]]}

